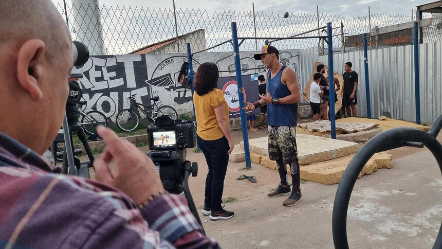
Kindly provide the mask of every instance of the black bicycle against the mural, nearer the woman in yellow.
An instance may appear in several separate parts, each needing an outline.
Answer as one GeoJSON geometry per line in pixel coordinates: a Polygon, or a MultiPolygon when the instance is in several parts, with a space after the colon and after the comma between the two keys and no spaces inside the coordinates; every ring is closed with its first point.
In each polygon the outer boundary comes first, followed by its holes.
{"type": "Polygon", "coordinates": [[[146,115],[146,117],[151,122],[155,122],[155,119],[159,116],[170,116],[172,119],[178,118],[178,113],[175,111],[175,109],[172,106],[169,105],[158,106],[156,102],[160,99],[159,96],[151,98],[151,101],[154,101],[153,104],[144,105],[138,103],[135,100],[136,95],[137,94],[134,94],[127,98],[131,102],[131,107],[128,109],[123,109],[117,114],[115,123],[117,124],[118,128],[120,128],[120,130],[133,131],[138,128],[141,117],[139,113],[132,110],[134,109],[134,106],[136,106],[136,108],[138,108],[144,115],[146,115]],[[145,111],[143,108],[148,109],[148,111],[145,111]]]}

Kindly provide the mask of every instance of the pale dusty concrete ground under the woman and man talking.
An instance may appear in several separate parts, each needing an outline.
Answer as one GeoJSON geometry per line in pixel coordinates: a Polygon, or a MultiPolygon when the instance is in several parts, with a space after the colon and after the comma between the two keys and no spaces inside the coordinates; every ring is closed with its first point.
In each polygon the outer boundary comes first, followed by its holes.
{"type": "MultiPolygon", "coordinates": [[[[234,131],[235,144],[242,132],[234,131]]],[[[249,132],[249,138],[266,136],[266,130],[249,132]]],[[[442,141],[442,136],[438,137],[442,141]]],[[[148,151],[148,147],[141,147],[148,151]]],[[[430,248],[442,216],[442,177],[427,149],[399,148],[392,169],[379,169],[357,180],[347,217],[351,248],[430,248]],[[402,190],[402,191],[400,191],[402,190]]],[[[98,155],[97,155],[98,156],[98,155]]],[[[201,153],[188,149],[187,159],[198,163],[198,176],[190,187],[198,211],[204,205],[207,164],[201,153]]],[[[224,248],[333,248],[331,213],[338,185],[302,181],[304,199],[284,207],[286,197],[268,198],[278,186],[277,171],[252,164],[229,163],[223,199],[235,212],[230,220],[211,221],[200,214],[208,236],[224,248]],[[257,183],[236,180],[241,174],[256,176],[257,183]]],[[[224,205],[224,204],[223,204],[224,205]]]]}

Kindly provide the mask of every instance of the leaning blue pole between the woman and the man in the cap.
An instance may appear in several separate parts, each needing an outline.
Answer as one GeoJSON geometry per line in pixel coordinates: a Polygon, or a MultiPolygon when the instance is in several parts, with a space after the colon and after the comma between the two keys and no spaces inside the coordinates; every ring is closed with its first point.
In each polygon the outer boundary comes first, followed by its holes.
{"type": "Polygon", "coordinates": [[[238,45],[238,33],[236,30],[236,23],[232,22],[231,26],[232,26],[233,51],[235,52],[236,83],[238,84],[238,96],[240,97],[241,129],[243,130],[244,155],[246,157],[246,168],[251,168],[252,164],[250,162],[250,149],[249,149],[249,137],[247,135],[246,112],[243,110],[245,99],[244,99],[244,94],[242,93],[244,91],[243,90],[244,88],[243,88],[243,78],[241,75],[240,46],[238,45]]]}

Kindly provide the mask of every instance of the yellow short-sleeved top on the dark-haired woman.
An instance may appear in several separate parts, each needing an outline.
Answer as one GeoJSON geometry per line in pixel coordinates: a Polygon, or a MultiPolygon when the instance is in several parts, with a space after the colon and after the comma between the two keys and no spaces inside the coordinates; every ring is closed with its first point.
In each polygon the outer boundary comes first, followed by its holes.
{"type": "Polygon", "coordinates": [[[198,124],[196,134],[200,138],[215,140],[224,136],[215,115],[215,108],[223,103],[226,108],[227,123],[229,123],[229,105],[221,90],[216,88],[203,96],[199,96],[196,92],[193,95],[196,122],[198,124]]]}

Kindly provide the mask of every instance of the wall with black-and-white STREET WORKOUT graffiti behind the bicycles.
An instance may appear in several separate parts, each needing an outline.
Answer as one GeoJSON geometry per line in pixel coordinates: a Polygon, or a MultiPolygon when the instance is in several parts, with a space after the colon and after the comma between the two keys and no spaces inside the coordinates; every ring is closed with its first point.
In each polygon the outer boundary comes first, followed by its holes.
{"type": "MultiPolygon", "coordinates": [[[[260,61],[253,59],[253,51],[241,52],[242,74],[265,75],[265,68],[260,61]]],[[[146,54],[93,56],[73,74],[83,74],[79,80],[83,98],[87,101],[87,110],[103,112],[109,121],[115,122],[117,113],[129,108],[127,98],[136,95],[137,102],[151,105],[150,98],[159,96],[158,105],[171,105],[178,114],[192,112],[192,94],[189,88],[183,87],[178,81],[178,74],[185,54],[146,54]]],[[[282,64],[291,67],[298,76],[299,82],[299,51],[282,50],[282,64]]],[[[193,68],[204,62],[213,62],[222,72],[220,77],[236,76],[233,52],[211,52],[197,54],[193,58],[193,68]]],[[[256,82],[256,91],[258,87],[256,82]]],[[[237,90],[236,90],[237,91],[237,90]]],[[[249,99],[247,99],[249,100],[249,99]]]]}

